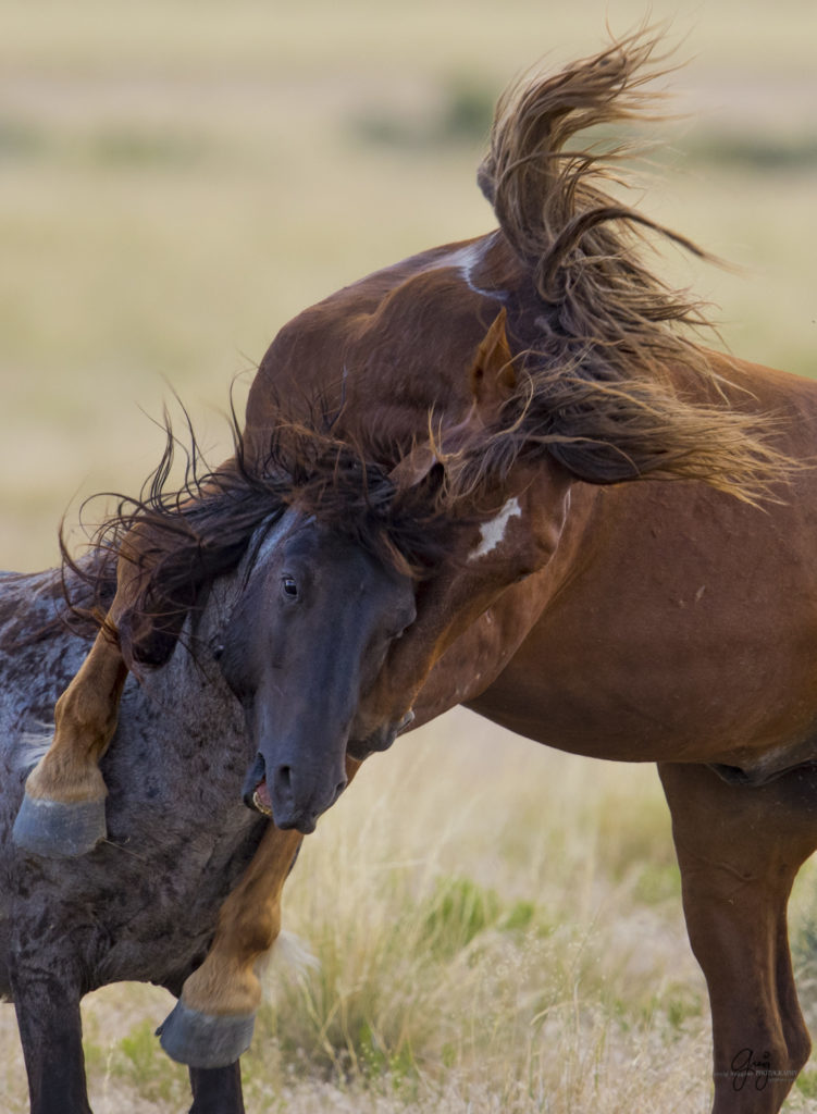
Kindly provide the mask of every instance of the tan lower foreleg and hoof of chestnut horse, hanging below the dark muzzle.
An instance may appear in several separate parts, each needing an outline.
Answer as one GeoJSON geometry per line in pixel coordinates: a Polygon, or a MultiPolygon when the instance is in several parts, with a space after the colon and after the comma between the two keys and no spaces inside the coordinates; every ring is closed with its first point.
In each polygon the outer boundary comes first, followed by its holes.
{"type": "Polygon", "coordinates": [[[224,1067],[250,1047],[261,1005],[259,960],[281,931],[281,890],[303,836],[270,823],[252,862],[218,913],[207,958],[182,988],[159,1028],[168,1056],[192,1067],[224,1067]]]}

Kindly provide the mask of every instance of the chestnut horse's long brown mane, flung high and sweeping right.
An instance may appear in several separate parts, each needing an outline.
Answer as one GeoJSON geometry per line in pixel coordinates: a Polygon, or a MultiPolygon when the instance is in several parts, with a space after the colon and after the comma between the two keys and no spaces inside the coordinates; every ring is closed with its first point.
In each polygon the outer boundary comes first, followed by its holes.
{"type": "Polygon", "coordinates": [[[450,461],[454,492],[543,450],[594,483],[698,479],[749,501],[792,470],[768,443],[774,421],[727,403],[729,383],[697,340],[713,328],[703,304],[655,275],[643,250],[652,237],[713,257],[604,188],[625,185],[630,145],[566,146],[599,125],[665,118],[663,94],[646,87],[677,68],[670,55],[645,28],[555,76],[528,74],[499,100],[477,178],[535,312],[516,323],[515,394],[476,451],[450,461]]]}

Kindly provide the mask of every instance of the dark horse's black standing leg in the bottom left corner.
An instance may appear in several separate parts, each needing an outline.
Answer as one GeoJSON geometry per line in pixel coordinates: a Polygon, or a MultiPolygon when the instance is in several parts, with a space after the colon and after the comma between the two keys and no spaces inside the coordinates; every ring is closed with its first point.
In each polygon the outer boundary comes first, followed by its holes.
{"type": "Polygon", "coordinates": [[[31,1114],[91,1114],[79,991],[56,974],[12,971],[31,1114]]]}

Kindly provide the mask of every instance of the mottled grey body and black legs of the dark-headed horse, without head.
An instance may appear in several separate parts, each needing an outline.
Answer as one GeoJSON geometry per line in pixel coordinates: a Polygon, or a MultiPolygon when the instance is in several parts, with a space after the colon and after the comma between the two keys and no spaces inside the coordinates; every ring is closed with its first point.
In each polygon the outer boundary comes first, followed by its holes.
{"type": "MultiPolygon", "coordinates": [[[[32,1114],[88,1114],[80,998],[121,980],[178,996],[269,823],[242,803],[254,747],[213,662],[243,577],[212,586],[165,668],[129,680],[104,763],[108,839],[67,863],[9,834],[87,643],[58,622],[59,573],[0,574],[0,997],[17,1008],[32,1114]]],[[[189,1074],[194,1114],[244,1110],[237,1062],[189,1074]]]]}

